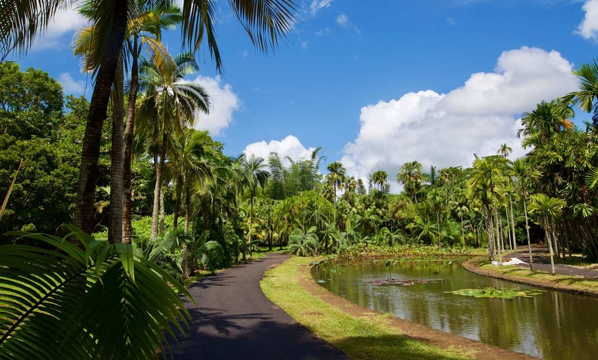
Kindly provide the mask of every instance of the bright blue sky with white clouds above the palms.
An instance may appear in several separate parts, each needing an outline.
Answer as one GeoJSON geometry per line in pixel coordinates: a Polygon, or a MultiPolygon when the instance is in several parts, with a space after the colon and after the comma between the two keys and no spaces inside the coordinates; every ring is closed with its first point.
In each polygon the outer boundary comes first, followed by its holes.
{"type": "MultiPolygon", "coordinates": [[[[214,98],[208,128],[225,152],[291,157],[322,146],[350,175],[401,164],[467,166],[496,153],[518,117],[540,100],[573,91],[571,69],[593,60],[598,0],[306,0],[294,34],[275,54],[258,54],[221,1],[219,77],[206,49],[189,80],[214,98]]],[[[60,15],[23,67],[48,71],[81,94],[69,42],[82,24],[60,15]]],[[[178,32],[166,37],[180,51],[178,32]]],[[[577,119],[584,119],[578,116],[577,119]]]]}

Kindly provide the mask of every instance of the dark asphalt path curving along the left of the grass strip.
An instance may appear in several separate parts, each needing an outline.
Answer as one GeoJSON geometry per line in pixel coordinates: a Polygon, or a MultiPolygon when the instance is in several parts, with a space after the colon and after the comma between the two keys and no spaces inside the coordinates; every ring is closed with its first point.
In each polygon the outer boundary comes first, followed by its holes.
{"type": "Polygon", "coordinates": [[[169,341],[175,359],[348,359],[315,337],[265,297],[264,271],[289,256],[271,254],[247,265],[199,280],[189,292],[199,305],[179,345],[169,341]]]}

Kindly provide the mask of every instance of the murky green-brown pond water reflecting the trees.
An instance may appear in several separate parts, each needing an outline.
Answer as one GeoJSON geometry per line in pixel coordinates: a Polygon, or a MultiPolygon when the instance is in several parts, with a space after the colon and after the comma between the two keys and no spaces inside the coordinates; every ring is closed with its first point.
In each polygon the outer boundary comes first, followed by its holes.
{"type": "Polygon", "coordinates": [[[393,279],[441,279],[412,286],[375,285],[386,262],[318,265],[321,286],[351,302],[431,328],[544,359],[598,359],[598,297],[546,291],[513,300],[444,293],[459,289],[537,289],[469,273],[458,262],[397,262],[393,279]]]}

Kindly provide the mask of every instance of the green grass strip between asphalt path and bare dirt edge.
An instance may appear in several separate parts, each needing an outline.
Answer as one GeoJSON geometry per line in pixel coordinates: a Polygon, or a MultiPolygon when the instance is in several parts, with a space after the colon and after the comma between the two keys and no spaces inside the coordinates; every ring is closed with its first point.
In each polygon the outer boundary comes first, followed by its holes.
{"type": "MultiPolygon", "coordinates": [[[[262,290],[291,317],[353,359],[468,359],[465,352],[442,350],[407,337],[390,326],[392,317],[366,311],[356,315],[322,301],[299,282],[312,258],[291,258],[266,273],[262,290]],[[300,265],[300,266],[298,266],[300,265]]],[[[308,275],[309,276],[309,275],[308,275]]],[[[324,289],[322,289],[324,291],[324,289]]]]}

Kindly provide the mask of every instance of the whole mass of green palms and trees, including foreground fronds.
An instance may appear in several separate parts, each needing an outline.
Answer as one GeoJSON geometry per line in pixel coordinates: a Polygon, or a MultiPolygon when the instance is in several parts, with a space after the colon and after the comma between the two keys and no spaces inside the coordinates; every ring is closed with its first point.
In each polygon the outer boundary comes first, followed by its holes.
{"type": "MultiPolygon", "coordinates": [[[[3,56],[30,46],[43,26],[35,16],[52,16],[54,2],[0,4],[11,19],[0,24],[3,56]]],[[[69,344],[80,345],[69,352],[78,359],[151,357],[163,329],[185,318],[167,283],[188,295],[180,280],[260,247],[298,256],[364,244],[485,247],[499,260],[541,242],[551,258],[598,259],[597,63],[575,71],[579,91],[522,114],[524,157],[510,160],[509,144],[496,144],[468,168],[405,159],[388,169],[396,178],[378,170],[358,179],[321,149],[299,159],[228,157],[195,130],[212,104],[201,84],[184,81],[199,70],[193,53],[203,39],[218,67],[221,59],[214,3],[184,3],[85,2],[91,25],[74,53],[94,76],[90,100],[65,96],[41,70],[0,63],[0,195],[10,195],[0,210],[0,359],[64,354],[55,350],[69,344]],[[190,52],[169,54],[161,43],[175,27],[190,52]],[[591,120],[573,126],[574,111],[591,120]],[[391,183],[402,191],[391,194],[391,183]],[[94,306],[126,326],[86,310],[94,306]],[[23,350],[23,341],[36,346],[23,350]]],[[[230,3],[263,52],[294,23],[292,1],[230,3]]]]}

